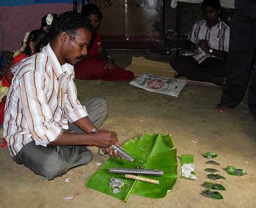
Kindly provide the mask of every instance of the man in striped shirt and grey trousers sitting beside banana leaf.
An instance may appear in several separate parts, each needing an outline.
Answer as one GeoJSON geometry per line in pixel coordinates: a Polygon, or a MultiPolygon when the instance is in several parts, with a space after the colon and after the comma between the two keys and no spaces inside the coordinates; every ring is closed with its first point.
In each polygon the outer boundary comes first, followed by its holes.
{"type": "Polygon", "coordinates": [[[117,158],[113,131],[98,131],[108,114],[104,98],[81,105],[72,65],[87,54],[92,27],[74,11],[52,22],[52,40],[42,52],[15,65],[4,114],[4,138],[13,160],[47,179],[86,165],[95,145],[117,158]]]}

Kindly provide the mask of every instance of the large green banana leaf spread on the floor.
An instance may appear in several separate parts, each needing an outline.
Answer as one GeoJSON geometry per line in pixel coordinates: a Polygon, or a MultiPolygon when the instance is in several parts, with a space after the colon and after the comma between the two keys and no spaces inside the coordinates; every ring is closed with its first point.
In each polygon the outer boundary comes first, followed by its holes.
{"type": "Polygon", "coordinates": [[[148,198],[163,198],[172,191],[177,181],[177,151],[172,149],[171,135],[145,133],[140,139],[134,137],[122,147],[134,158],[134,161],[130,163],[120,158],[109,158],[86,183],[88,188],[106,193],[125,202],[131,193],[148,198]],[[157,169],[163,170],[164,175],[162,177],[141,175],[158,180],[159,184],[157,185],[127,179],[124,174],[110,174],[109,168],[157,169]],[[113,189],[109,187],[109,180],[113,177],[120,178],[124,182],[124,186],[118,193],[113,193],[113,189]]]}

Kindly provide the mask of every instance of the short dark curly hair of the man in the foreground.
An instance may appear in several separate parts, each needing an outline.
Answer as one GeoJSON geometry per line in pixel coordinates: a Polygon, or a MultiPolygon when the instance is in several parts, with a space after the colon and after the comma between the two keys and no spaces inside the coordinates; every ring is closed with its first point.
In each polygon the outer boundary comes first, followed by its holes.
{"type": "Polygon", "coordinates": [[[56,36],[63,32],[66,32],[73,38],[76,35],[77,29],[81,27],[88,29],[91,33],[93,32],[92,25],[81,13],[66,11],[52,21],[52,38],[56,38],[56,36]]]}

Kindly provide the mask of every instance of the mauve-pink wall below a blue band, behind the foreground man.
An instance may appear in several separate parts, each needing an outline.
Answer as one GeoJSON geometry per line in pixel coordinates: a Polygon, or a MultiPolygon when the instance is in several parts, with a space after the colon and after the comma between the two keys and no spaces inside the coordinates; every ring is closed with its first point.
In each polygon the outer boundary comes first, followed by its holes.
{"type": "Polygon", "coordinates": [[[41,19],[47,13],[63,13],[73,10],[73,4],[31,4],[26,6],[0,6],[0,29],[4,31],[3,49],[20,48],[24,34],[40,28],[41,19]]]}

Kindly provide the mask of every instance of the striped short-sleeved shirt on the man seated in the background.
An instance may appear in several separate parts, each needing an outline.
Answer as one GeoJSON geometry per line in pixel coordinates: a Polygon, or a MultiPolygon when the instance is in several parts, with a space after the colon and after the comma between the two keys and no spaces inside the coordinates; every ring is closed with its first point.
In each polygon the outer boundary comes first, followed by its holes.
{"type": "MultiPolygon", "coordinates": [[[[200,40],[208,40],[209,47],[228,52],[230,28],[227,24],[220,21],[209,29],[206,23],[206,20],[196,22],[188,39],[196,45],[198,45],[200,40]]],[[[202,63],[207,57],[209,57],[209,54],[205,53],[200,47],[198,47],[193,55],[193,58],[198,63],[202,63]]]]}

